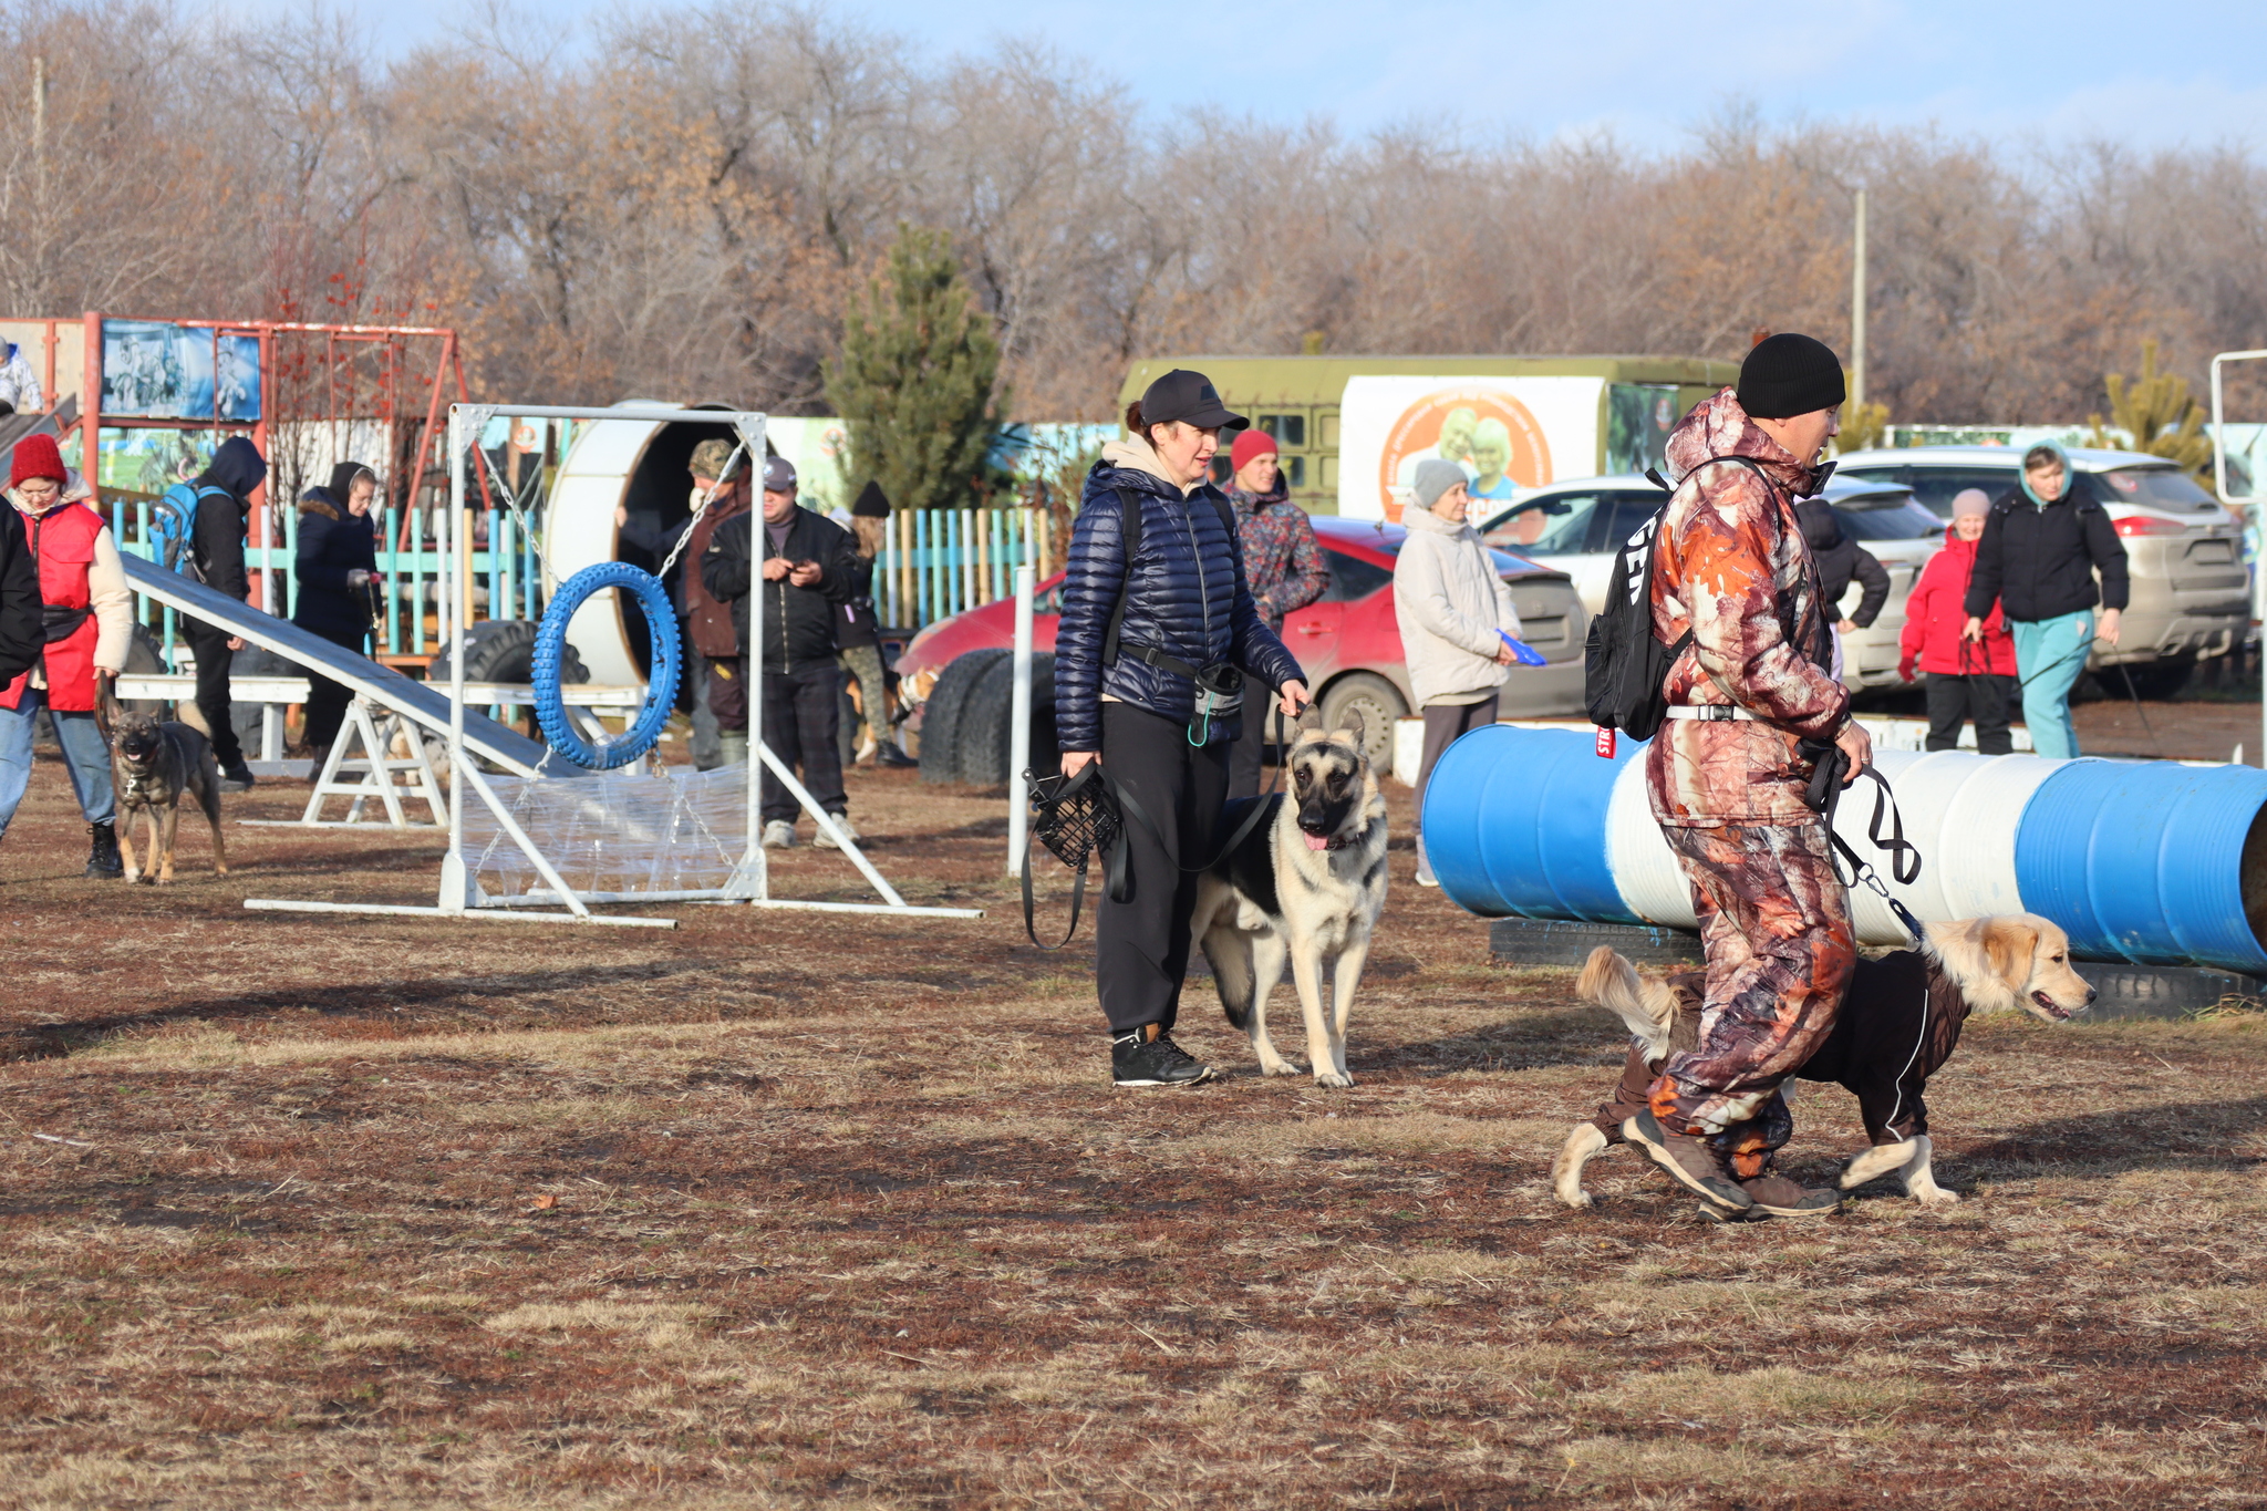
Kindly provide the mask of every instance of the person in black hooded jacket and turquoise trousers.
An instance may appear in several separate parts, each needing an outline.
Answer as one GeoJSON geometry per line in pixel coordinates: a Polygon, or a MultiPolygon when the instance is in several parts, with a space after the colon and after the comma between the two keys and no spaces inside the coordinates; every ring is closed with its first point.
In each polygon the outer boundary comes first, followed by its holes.
{"type": "Polygon", "coordinates": [[[2070,720],[2070,689],[2086,673],[2095,641],[2117,643],[2126,607],[2124,541],[2095,503],[2070,458],[2054,442],[2022,453],[2015,487],[1984,519],[1977,564],[1968,578],[1970,641],[1984,639],[1984,618],[1997,603],[2015,637],[2015,675],[2022,682],[2022,723],[2043,757],[2079,754],[2070,720]],[[2095,573],[2102,575],[2099,589],[2095,573]],[[2102,623],[2095,623],[2102,605],[2102,623]]]}

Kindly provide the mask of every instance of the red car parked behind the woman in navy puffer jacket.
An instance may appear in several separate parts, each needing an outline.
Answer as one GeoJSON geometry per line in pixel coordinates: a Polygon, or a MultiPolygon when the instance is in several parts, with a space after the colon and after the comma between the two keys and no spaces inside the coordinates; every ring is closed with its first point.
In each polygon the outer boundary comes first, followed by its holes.
{"type": "MultiPolygon", "coordinates": [[[[1369,759],[1383,770],[1392,763],[1392,725],[1410,707],[1408,668],[1401,661],[1401,628],[1394,621],[1394,555],[1401,550],[1406,530],[1401,526],[1362,519],[1315,519],[1315,537],[1331,566],[1331,587],[1317,603],[1292,612],[1283,621],[1283,643],[1306,671],[1306,684],[1315,693],[1326,725],[1344,720],[1349,709],[1360,709],[1369,734],[1369,759]]],[[[1496,550],[1496,566],[1512,584],[1512,600],[1519,605],[1519,623],[1528,643],[1544,652],[1546,666],[1514,668],[1503,686],[1501,711],[1505,718],[1553,718],[1582,711],[1582,643],[1589,639],[1589,614],[1576,596],[1573,582],[1555,564],[1539,564],[1508,550],[1496,550]]],[[[1047,652],[1045,664],[1034,671],[1034,684],[1047,689],[1052,705],[1054,689],[1054,628],[1061,621],[1063,578],[1054,575],[1038,587],[1034,605],[1031,643],[1047,652]]],[[[923,770],[936,779],[1000,782],[1004,763],[995,761],[993,714],[988,700],[1000,698],[1004,673],[997,666],[970,664],[968,673],[945,675],[952,661],[973,652],[1000,652],[1016,639],[1016,603],[1002,598],[950,618],[939,618],[916,634],[905,655],[898,657],[900,693],[916,707],[923,741],[923,770]],[[993,682],[1000,680],[1000,686],[993,682]],[[932,725],[932,695],[945,693],[954,707],[939,707],[932,725]],[[970,709],[963,718],[961,705],[970,709]],[[975,754],[952,754],[929,750],[936,727],[952,725],[954,752],[968,750],[970,741],[982,745],[975,754]]],[[[1004,661],[1000,664],[1004,666],[1004,661]]],[[[1038,691],[1034,689],[1034,702],[1038,691]]],[[[1002,705],[1004,709],[1004,705],[1002,705]]],[[[1052,723],[1052,716],[1050,716],[1052,723]]],[[[1041,716],[1034,716],[1034,750],[1041,745],[1041,716]]],[[[1004,745],[1002,745],[1004,750],[1004,745]]]]}

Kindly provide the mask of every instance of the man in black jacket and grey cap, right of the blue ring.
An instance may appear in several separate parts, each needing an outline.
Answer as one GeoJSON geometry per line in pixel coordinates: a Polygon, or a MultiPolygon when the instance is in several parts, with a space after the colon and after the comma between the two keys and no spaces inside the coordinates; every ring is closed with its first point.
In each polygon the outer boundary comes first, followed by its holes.
{"type": "MultiPolygon", "coordinates": [[[[755,548],[753,512],[735,514],[716,526],[701,553],[701,582],[732,605],[732,628],[741,650],[748,634],[748,605],[755,580],[764,596],[764,729],[762,739],[787,766],[800,766],[803,786],[821,809],[834,816],[843,834],[850,827],[850,797],[843,793],[841,739],[841,668],[834,661],[834,623],[841,605],[857,589],[857,553],[850,535],[830,519],[796,505],[796,467],[787,458],[764,462],[764,546],[755,548]],[[762,562],[762,566],[757,566],[762,562]]],[[[748,659],[719,661],[710,675],[710,700],[723,723],[721,698],[739,693],[748,659]]],[[[757,759],[748,752],[748,759],[757,759]]],[[[764,845],[787,850],[796,843],[796,800],[787,784],[764,770],[764,845]]],[[[821,829],[818,845],[832,847],[821,829]]]]}

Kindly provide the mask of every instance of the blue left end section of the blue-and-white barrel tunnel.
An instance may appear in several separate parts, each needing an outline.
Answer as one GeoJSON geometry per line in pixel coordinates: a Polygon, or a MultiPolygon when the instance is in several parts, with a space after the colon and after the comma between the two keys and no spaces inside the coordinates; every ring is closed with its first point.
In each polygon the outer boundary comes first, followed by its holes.
{"type": "Polygon", "coordinates": [[[1573,729],[1474,729],[1442,752],[1424,793],[1424,847],[1440,888],[1483,917],[1639,920],[1607,861],[1614,777],[1644,745],[1598,759],[1573,729]]]}

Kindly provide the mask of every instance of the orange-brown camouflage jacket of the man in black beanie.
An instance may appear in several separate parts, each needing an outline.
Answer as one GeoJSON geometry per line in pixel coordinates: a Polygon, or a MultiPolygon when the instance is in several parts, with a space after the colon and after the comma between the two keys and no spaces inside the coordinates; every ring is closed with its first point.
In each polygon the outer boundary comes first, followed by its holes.
{"type": "Polygon", "coordinates": [[[1811,825],[1802,739],[1832,739],[1850,689],[1827,673],[1818,569],[1791,501],[1809,467],[1739,408],[1732,390],[1693,406],[1669,437],[1678,483],[1653,557],[1653,632],[1693,643],[1669,671],[1671,705],[1737,702],[1759,720],[1671,720],[1646,750],[1662,825],[1811,825]],[[1752,469],[1709,458],[1752,458],[1752,469]]]}

